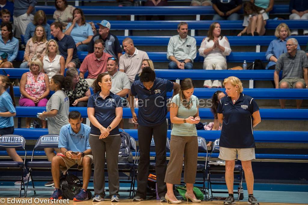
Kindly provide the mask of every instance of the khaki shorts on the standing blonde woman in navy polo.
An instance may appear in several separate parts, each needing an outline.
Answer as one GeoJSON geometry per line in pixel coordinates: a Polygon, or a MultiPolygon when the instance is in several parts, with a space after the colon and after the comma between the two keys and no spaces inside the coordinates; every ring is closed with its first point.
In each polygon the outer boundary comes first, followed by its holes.
{"type": "Polygon", "coordinates": [[[218,158],[222,160],[238,159],[241,161],[249,161],[252,159],[256,159],[256,155],[254,153],[254,148],[233,149],[233,148],[219,147],[218,158]]]}

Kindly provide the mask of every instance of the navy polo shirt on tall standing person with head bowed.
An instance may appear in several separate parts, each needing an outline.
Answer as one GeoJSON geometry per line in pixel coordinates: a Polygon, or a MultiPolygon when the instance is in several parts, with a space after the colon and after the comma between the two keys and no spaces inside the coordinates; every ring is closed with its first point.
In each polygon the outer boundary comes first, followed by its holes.
{"type": "Polygon", "coordinates": [[[138,95],[138,124],[156,126],[166,120],[167,92],[173,89],[173,82],[155,78],[153,87],[148,90],[140,80],[132,84],[132,95],[138,95]]]}

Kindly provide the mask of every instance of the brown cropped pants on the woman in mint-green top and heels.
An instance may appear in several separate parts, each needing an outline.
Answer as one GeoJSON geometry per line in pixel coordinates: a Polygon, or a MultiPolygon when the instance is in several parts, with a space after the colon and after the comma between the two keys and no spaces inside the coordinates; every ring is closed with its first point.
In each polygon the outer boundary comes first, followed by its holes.
{"type": "Polygon", "coordinates": [[[184,156],[184,182],[193,184],[196,180],[198,160],[198,137],[171,135],[170,160],[165,183],[180,184],[184,156]]]}

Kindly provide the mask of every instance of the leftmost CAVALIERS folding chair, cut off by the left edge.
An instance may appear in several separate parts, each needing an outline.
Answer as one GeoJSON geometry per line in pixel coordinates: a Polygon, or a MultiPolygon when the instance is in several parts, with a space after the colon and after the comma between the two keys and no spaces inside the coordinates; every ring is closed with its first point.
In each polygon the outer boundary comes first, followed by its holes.
{"type": "MultiPolygon", "coordinates": [[[[23,162],[14,161],[0,161],[1,171],[20,171],[20,187],[19,188],[0,188],[0,191],[19,191],[19,197],[21,191],[25,191],[25,182],[23,181],[23,172],[25,170],[25,161],[27,152],[25,150],[26,139],[22,135],[2,135],[0,136],[0,147],[1,148],[15,148],[23,149],[25,151],[25,160],[23,162]]],[[[16,181],[16,178],[1,177],[1,181],[16,181]]],[[[25,191],[26,194],[26,191],[25,191]]]]}

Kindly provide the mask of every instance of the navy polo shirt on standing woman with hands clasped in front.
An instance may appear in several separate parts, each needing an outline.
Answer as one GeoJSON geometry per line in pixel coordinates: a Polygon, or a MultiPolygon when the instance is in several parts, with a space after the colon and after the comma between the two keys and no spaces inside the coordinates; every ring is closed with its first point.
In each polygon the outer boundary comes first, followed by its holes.
{"type": "MultiPolygon", "coordinates": [[[[107,128],[111,122],[115,119],[115,108],[122,107],[121,97],[119,95],[110,94],[103,99],[100,95],[100,92],[92,94],[88,100],[88,107],[94,107],[94,117],[97,121],[107,128]]],[[[91,124],[91,135],[100,135],[101,132],[99,128],[91,124]]],[[[120,135],[119,126],[115,127],[110,131],[108,136],[120,135]]]]}

